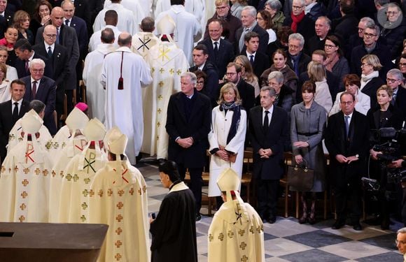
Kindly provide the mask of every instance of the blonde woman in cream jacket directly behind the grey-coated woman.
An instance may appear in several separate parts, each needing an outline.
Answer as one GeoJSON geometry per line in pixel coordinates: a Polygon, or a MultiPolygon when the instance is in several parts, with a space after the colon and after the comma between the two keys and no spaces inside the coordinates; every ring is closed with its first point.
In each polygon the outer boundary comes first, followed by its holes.
{"type": "Polygon", "coordinates": [[[316,85],[314,101],[323,106],[325,112],[328,114],[332,108],[332,98],[330,90],[328,89],[327,80],[325,79],[325,69],[323,64],[311,61],[307,65],[307,73],[309,74],[310,80],[316,85]]]}

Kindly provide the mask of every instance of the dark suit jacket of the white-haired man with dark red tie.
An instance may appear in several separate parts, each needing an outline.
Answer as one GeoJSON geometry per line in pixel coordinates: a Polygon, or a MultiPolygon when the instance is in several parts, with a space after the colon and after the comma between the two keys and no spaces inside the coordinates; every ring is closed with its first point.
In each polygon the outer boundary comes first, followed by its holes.
{"type": "Polygon", "coordinates": [[[21,80],[25,82],[25,100],[31,101],[36,99],[45,103],[45,116],[43,117],[43,124],[48,128],[52,136],[55,135],[57,130],[55,126],[55,119],[53,118],[52,114],[55,110],[56,82],[44,76],[41,78],[41,82],[36,87],[36,96],[31,98],[31,76],[28,75],[25,78],[21,78],[21,80]]]}

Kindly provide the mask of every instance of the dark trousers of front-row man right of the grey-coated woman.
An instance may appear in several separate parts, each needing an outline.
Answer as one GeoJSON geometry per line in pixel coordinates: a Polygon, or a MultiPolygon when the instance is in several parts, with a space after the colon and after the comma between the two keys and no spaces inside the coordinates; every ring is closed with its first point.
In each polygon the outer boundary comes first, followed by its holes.
{"type": "Polygon", "coordinates": [[[346,220],[346,209],[351,211],[351,222],[359,222],[361,215],[361,187],[360,184],[344,184],[336,187],[335,194],[335,210],[339,221],[346,220]],[[350,201],[351,205],[347,205],[350,201]]]}

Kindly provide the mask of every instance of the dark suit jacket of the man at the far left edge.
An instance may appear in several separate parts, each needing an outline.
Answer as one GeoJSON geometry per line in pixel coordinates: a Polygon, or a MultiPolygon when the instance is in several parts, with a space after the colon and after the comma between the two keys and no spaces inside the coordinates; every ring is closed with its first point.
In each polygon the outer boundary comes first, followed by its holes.
{"type": "MultiPolygon", "coordinates": [[[[18,118],[20,119],[29,111],[29,101],[22,99],[20,112],[18,118]]],[[[13,104],[11,100],[0,103],[0,161],[3,163],[6,157],[8,144],[8,135],[13,128],[15,121],[13,121],[13,104]]]]}

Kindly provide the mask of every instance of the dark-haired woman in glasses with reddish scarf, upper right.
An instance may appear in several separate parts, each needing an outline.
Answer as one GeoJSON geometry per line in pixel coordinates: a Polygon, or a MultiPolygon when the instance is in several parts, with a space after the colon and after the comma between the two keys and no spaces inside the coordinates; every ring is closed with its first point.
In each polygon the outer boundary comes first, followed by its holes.
{"type": "Polygon", "coordinates": [[[344,91],[342,78],[349,73],[349,64],[342,52],[341,43],[337,36],[327,36],[324,43],[324,52],[327,54],[325,59],[325,69],[337,75],[339,78],[339,91],[344,91]]]}

